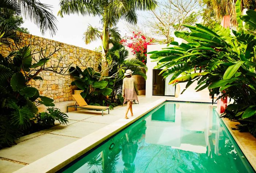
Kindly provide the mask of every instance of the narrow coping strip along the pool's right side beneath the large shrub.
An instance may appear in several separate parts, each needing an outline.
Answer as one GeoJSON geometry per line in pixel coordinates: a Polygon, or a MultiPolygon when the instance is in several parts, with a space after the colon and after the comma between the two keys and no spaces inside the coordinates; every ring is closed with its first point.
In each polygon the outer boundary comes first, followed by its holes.
{"type": "MultiPolygon", "coordinates": [[[[215,110],[219,116],[221,113],[215,110]]],[[[231,136],[236,141],[242,153],[244,153],[246,159],[251,164],[252,168],[256,171],[256,138],[250,132],[240,132],[238,130],[232,130],[236,127],[235,124],[239,122],[230,121],[228,118],[222,118],[223,123],[229,130],[231,136]]]]}

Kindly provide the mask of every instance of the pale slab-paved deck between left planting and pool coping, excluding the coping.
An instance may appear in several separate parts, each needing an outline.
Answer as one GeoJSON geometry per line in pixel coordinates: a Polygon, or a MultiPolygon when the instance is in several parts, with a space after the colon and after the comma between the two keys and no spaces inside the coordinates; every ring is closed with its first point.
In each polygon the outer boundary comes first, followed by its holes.
{"type": "MultiPolygon", "coordinates": [[[[159,97],[146,98],[139,96],[140,104],[133,105],[134,115],[141,115],[148,104],[158,100],[159,97]]],[[[0,150],[0,172],[14,172],[32,162],[69,145],[93,132],[124,119],[126,105],[117,106],[110,110],[110,114],[100,111],[79,110],[68,112],[69,123],[56,125],[33,134],[21,137],[17,145],[0,150]]],[[[128,114],[128,116],[130,116],[128,114]]],[[[131,116],[130,116],[131,117],[131,116]]]]}

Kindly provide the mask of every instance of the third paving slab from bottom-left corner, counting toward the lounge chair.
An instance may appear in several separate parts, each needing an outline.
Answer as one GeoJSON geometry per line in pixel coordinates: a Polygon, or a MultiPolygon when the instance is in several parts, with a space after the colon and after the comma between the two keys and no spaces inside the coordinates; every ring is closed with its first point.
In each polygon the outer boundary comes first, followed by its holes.
{"type": "MultiPolygon", "coordinates": [[[[102,118],[102,116],[100,116],[100,118],[102,118]]],[[[86,135],[89,135],[90,133],[92,133],[94,131],[99,130],[102,127],[105,127],[106,125],[108,125],[108,124],[90,123],[90,122],[80,121],[78,123],[71,124],[70,126],[67,126],[65,128],[61,128],[60,130],[55,130],[51,133],[82,138],[82,137],[85,137],[86,135]]]]}

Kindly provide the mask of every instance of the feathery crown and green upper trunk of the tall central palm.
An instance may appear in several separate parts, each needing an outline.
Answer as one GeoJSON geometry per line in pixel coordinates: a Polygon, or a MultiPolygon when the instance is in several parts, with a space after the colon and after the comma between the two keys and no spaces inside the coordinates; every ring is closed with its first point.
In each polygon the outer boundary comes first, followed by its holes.
{"type": "Polygon", "coordinates": [[[103,25],[102,53],[105,57],[109,50],[110,28],[115,27],[120,19],[136,24],[136,10],[152,10],[156,5],[156,0],[61,0],[58,15],[99,16],[103,25]]]}

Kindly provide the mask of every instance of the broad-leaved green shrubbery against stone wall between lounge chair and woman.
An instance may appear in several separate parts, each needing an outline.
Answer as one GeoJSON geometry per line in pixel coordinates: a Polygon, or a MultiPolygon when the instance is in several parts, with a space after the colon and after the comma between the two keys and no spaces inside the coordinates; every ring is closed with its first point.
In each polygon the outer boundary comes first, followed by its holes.
{"type": "Polygon", "coordinates": [[[108,68],[108,77],[102,76],[100,60],[97,60],[99,62],[98,69],[86,68],[81,70],[79,66],[76,66],[76,68],[71,67],[69,72],[75,79],[71,85],[83,90],[80,95],[89,104],[109,106],[112,109],[124,101],[121,91],[125,70],[131,69],[133,74],[141,75],[146,79],[147,76],[144,71],[147,70],[147,66],[138,59],[128,59],[128,51],[119,43],[114,44],[109,49],[106,57],[110,67],[108,68]]]}

